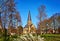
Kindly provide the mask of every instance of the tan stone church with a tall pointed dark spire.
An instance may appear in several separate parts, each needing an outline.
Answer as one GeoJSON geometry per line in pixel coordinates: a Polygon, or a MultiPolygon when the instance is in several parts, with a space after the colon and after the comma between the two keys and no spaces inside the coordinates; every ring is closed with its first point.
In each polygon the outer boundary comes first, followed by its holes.
{"type": "Polygon", "coordinates": [[[36,27],[33,25],[32,20],[31,20],[31,14],[30,11],[28,13],[28,19],[27,19],[27,24],[23,28],[23,33],[36,33],[36,27]]]}

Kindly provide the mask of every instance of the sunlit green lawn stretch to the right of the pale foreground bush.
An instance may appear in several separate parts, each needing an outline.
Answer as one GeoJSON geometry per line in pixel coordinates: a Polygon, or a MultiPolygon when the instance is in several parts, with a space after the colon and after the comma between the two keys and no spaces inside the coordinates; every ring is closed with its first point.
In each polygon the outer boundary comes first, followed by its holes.
{"type": "Polygon", "coordinates": [[[44,37],[45,41],[60,41],[60,34],[43,34],[41,37],[44,37]]]}

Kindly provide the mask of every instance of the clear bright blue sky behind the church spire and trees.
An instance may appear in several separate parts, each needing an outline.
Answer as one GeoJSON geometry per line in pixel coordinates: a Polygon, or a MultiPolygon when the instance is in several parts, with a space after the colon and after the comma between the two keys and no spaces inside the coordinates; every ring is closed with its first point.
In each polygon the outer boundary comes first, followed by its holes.
{"type": "Polygon", "coordinates": [[[16,9],[19,11],[23,27],[27,24],[28,12],[30,10],[32,23],[37,26],[38,7],[46,6],[47,17],[60,12],[60,0],[16,0],[16,9]]]}

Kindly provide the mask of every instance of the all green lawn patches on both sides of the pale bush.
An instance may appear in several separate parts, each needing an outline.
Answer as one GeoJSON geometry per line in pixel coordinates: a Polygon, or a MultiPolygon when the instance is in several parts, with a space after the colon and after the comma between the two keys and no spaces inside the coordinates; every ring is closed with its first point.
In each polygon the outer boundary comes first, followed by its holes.
{"type": "MultiPolygon", "coordinates": [[[[34,36],[36,36],[36,35],[34,35],[34,36]]],[[[39,35],[39,36],[44,37],[44,41],[60,41],[60,34],[43,34],[43,35],[39,35]]],[[[17,39],[17,36],[14,35],[12,37],[7,37],[8,41],[13,41],[14,38],[17,39]]],[[[0,37],[0,41],[3,41],[3,39],[4,39],[4,37],[0,37]]],[[[36,39],[37,39],[37,37],[36,37],[36,39]]]]}

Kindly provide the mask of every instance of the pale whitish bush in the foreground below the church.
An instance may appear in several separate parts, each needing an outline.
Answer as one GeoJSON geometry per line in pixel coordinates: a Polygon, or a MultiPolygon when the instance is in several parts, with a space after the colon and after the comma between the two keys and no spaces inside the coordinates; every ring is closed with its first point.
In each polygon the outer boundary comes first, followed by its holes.
{"type": "Polygon", "coordinates": [[[32,34],[25,34],[25,35],[21,35],[19,36],[19,38],[17,39],[17,41],[44,41],[44,38],[41,38],[40,35],[32,35],[32,34]]]}

